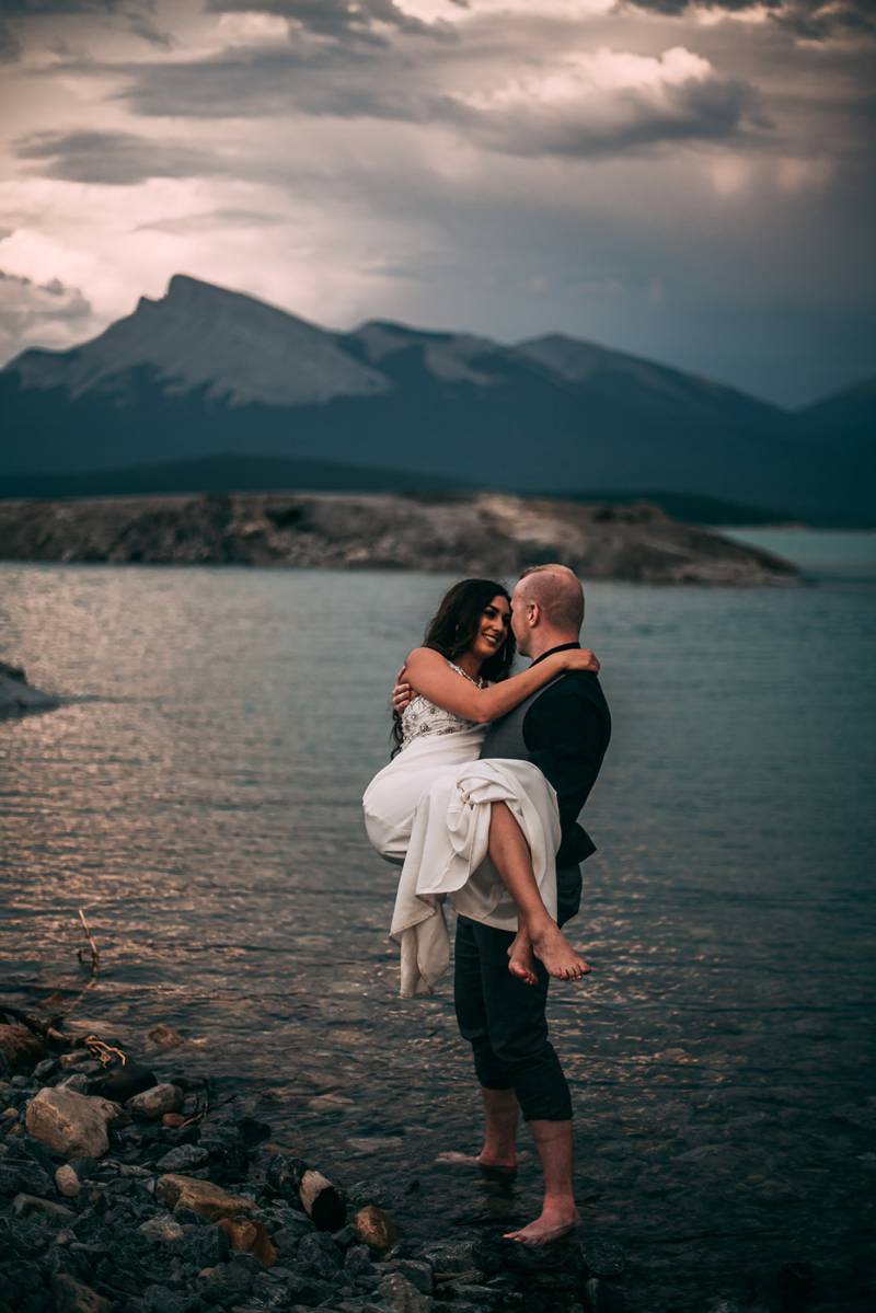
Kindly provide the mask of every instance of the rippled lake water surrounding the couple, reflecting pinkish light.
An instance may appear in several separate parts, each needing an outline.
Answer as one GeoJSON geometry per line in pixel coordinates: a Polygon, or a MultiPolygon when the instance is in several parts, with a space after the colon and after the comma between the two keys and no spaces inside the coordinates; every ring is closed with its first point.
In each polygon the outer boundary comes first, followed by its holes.
{"type": "MultiPolygon", "coordinates": [[[[160,1061],[269,1091],[276,1138],[410,1187],[415,1234],[525,1220],[537,1187],[532,1163],[510,1197],[428,1166],[475,1142],[469,1057],[449,981],[397,998],[397,872],[360,821],[391,674],[447,582],[0,566],[0,655],[72,696],[0,729],[4,991],[77,989],[83,906],[102,960],[83,1020],[201,1041],[160,1061]]],[[[577,923],[594,973],[552,1018],[587,1225],[649,1309],[801,1258],[813,1306],[856,1289],[872,601],[588,590],[615,739],[577,923]]]]}

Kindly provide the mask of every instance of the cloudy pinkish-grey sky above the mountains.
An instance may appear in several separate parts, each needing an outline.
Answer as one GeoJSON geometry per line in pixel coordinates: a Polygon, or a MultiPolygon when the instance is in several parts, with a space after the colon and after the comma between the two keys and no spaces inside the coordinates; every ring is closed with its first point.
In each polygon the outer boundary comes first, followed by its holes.
{"type": "Polygon", "coordinates": [[[0,0],[0,364],[188,273],[802,406],[876,372],[875,55],[873,0],[0,0]]]}

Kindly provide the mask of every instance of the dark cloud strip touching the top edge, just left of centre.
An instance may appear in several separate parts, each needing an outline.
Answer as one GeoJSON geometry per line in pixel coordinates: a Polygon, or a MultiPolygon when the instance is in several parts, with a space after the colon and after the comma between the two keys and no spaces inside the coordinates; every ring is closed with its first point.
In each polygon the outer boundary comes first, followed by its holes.
{"type": "Polygon", "coordinates": [[[208,0],[210,13],[264,13],[286,18],[296,30],[336,41],[385,43],[381,28],[447,35],[449,25],[428,24],[405,13],[393,0],[208,0]]]}

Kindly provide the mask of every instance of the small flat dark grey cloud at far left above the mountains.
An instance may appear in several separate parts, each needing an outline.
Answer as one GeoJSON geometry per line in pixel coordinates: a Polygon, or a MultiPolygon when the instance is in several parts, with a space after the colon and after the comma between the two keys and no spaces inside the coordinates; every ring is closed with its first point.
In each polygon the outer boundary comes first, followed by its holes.
{"type": "Polygon", "coordinates": [[[134,133],[32,133],[14,143],[20,159],[42,160],[43,177],[133,186],[150,177],[202,177],[225,172],[217,152],[202,154],[134,133]]]}

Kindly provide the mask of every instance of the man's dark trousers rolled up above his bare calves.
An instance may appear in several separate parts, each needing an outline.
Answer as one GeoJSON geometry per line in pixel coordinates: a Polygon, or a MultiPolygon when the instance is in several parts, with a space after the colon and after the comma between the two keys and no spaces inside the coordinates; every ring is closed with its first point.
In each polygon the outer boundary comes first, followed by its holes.
{"type": "Polygon", "coordinates": [[[471,1045],[482,1086],[514,1090],[527,1121],[569,1121],[569,1086],[548,1040],[550,977],[540,961],[537,985],[512,976],[512,940],[510,931],[457,916],[453,998],[460,1032],[471,1045]]]}

